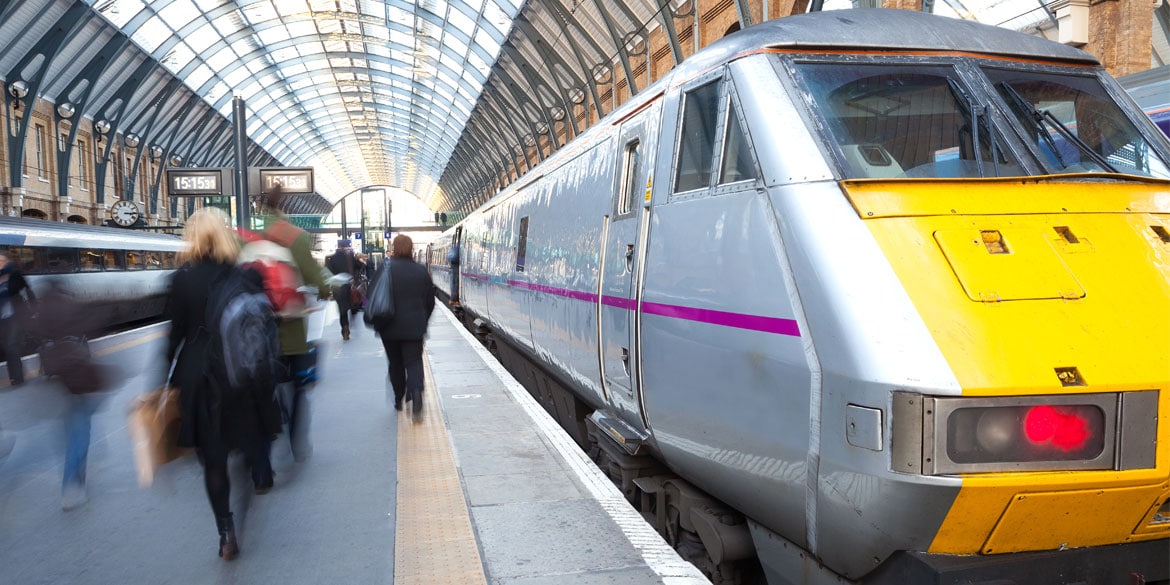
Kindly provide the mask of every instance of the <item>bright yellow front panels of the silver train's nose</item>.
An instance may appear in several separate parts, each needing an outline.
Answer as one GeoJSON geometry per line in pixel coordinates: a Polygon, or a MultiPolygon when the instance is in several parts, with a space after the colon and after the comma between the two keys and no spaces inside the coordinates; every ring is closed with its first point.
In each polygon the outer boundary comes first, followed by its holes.
{"type": "MultiPolygon", "coordinates": [[[[1161,390],[1159,419],[1170,421],[1170,242],[1154,228],[1170,229],[1170,187],[1034,180],[844,187],[964,395],[1161,390]],[[1023,242],[1035,270],[1018,257],[1000,262],[997,245],[983,241],[996,239],[1009,252],[1013,240],[1023,242]],[[996,290],[1010,292],[997,301],[986,294],[996,290]],[[1061,384],[1057,371],[1071,367],[1082,386],[1061,384]]],[[[1159,425],[1158,443],[1170,443],[1170,424],[1159,425]]],[[[930,551],[978,553],[993,531],[994,552],[1048,549],[1058,535],[1057,544],[1071,548],[1120,542],[1122,531],[1126,539],[1164,537],[1130,535],[1165,490],[1170,449],[1158,449],[1156,461],[1155,469],[1129,472],[968,475],[930,551]],[[1037,493],[1068,495],[1007,514],[1017,496],[1037,493]],[[1082,515],[1045,538],[1030,526],[1035,517],[1094,505],[1109,517],[1082,515]]]]}

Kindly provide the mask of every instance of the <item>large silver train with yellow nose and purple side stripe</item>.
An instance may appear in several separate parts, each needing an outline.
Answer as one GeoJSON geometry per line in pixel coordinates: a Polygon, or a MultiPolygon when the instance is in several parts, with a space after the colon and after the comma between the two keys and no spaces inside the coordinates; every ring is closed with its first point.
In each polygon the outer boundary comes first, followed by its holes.
{"type": "Polygon", "coordinates": [[[1168,195],[1093,56],[832,11],[696,53],[426,261],[716,584],[1165,584],[1168,195]]]}

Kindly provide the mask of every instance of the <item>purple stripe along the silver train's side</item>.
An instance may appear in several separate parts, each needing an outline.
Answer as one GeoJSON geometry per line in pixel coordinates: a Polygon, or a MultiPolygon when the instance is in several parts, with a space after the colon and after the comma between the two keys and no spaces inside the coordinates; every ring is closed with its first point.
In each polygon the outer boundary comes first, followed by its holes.
{"type": "MultiPolygon", "coordinates": [[[[490,280],[488,276],[482,274],[472,273],[460,273],[462,276],[476,281],[490,280]]],[[[592,292],[584,292],[580,290],[571,290],[560,287],[549,287],[545,284],[534,284],[531,282],[524,281],[508,281],[511,287],[535,290],[537,292],[544,292],[548,295],[563,296],[566,298],[572,298],[574,301],[585,301],[589,303],[597,302],[597,295],[592,292]]],[[[625,298],[619,296],[601,295],[601,304],[607,307],[617,307],[618,309],[634,310],[636,303],[632,298],[625,298]]],[[[661,317],[670,317],[683,321],[694,321],[697,323],[709,323],[711,325],[721,325],[735,329],[748,329],[751,331],[762,331],[765,333],[785,335],[791,337],[800,337],[800,326],[794,319],[784,319],[779,317],[762,317],[759,315],[744,315],[741,312],[728,312],[728,311],[716,311],[713,309],[695,309],[693,307],[679,307],[675,304],[665,303],[642,303],[642,312],[646,315],[658,315],[661,317]]]]}

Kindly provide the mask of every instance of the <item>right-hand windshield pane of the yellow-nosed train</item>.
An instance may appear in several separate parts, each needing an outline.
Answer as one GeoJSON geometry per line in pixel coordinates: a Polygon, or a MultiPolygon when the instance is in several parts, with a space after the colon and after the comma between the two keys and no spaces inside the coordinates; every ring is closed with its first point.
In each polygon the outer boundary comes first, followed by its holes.
{"type": "Polygon", "coordinates": [[[1051,173],[1170,178],[1137,126],[1095,77],[984,69],[1051,173]]]}

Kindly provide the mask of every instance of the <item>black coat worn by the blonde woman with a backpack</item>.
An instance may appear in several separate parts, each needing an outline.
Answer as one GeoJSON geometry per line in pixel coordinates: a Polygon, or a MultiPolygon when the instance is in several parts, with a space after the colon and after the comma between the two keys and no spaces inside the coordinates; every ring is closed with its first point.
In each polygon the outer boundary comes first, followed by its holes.
{"type": "Polygon", "coordinates": [[[166,364],[174,362],[171,383],[179,387],[180,447],[243,448],[257,433],[270,436],[281,431],[273,388],[256,388],[226,400],[205,372],[211,342],[207,297],[212,283],[228,270],[239,268],[205,261],[176,270],[171,281],[166,303],[166,317],[171,319],[166,364]]]}

